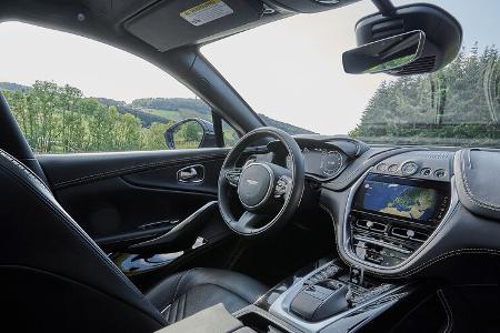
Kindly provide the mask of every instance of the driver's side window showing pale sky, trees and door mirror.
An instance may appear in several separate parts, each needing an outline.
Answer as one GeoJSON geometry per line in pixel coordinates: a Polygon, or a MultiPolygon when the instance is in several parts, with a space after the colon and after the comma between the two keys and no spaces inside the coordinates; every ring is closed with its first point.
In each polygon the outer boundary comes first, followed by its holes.
{"type": "Polygon", "coordinates": [[[217,145],[210,107],[140,58],[19,22],[0,39],[0,90],[37,153],[217,145]]]}

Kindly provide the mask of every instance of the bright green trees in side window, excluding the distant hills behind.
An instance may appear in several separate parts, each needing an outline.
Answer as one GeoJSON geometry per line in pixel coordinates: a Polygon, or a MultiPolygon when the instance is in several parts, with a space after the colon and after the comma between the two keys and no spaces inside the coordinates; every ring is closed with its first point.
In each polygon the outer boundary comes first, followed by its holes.
{"type": "Polygon", "coordinates": [[[3,94],[37,153],[166,149],[163,133],[173,124],[143,127],[131,113],[53,82],[37,81],[29,90],[4,90],[3,94]]]}

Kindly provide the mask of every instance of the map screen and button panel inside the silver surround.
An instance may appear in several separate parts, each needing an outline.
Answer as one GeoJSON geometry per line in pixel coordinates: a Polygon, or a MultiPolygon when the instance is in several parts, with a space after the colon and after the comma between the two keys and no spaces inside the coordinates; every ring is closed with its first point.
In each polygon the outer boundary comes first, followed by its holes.
{"type": "Polygon", "coordinates": [[[446,182],[370,173],[348,215],[350,250],[371,264],[397,266],[429,239],[449,205],[446,182]]]}

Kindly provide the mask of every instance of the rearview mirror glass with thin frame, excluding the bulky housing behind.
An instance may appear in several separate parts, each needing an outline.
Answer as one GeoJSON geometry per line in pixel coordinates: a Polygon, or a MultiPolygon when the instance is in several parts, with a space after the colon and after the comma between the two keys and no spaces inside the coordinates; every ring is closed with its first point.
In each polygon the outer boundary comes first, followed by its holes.
{"type": "Polygon", "coordinates": [[[422,53],[426,34],[411,31],[384,38],[343,52],[343,69],[350,74],[400,70],[422,53]]]}

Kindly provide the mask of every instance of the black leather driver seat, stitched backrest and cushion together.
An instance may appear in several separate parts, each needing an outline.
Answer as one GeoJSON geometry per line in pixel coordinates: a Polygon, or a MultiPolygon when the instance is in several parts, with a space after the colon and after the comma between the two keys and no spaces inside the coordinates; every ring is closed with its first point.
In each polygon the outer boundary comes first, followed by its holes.
{"type": "Polygon", "coordinates": [[[193,269],[142,294],[2,150],[0,204],[2,325],[16,331],[154,332],[217,303],[234,312],[267,291],[239,273],[193,269]]]}

